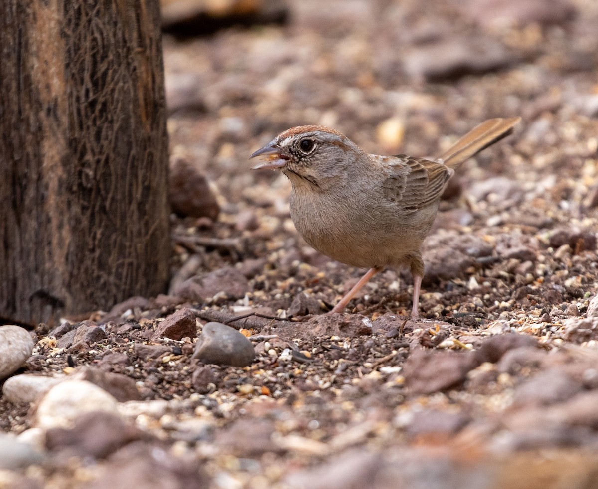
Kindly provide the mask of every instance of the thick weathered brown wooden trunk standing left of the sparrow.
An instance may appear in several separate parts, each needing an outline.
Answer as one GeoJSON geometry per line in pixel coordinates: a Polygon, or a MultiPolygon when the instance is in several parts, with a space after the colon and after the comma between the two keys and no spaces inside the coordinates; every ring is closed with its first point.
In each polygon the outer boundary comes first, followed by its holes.
{"type": "Polygon", "coordinates": [[[0,1],[0,317],[166,290],[157,0],[0,1]]]}

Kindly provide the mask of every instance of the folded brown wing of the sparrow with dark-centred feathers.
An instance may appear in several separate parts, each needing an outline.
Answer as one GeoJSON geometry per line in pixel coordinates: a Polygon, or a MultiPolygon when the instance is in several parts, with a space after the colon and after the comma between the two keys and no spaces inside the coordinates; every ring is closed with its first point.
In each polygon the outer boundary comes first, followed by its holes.
{"type": "Polygon", "coordinates": [[[386,160],[392,169],[382,190],[390,200],[405,210],[416,210],[431,204],[443,193],[454,170],[442,163],[413,158],[404,154],[386,160]],[[396,164],[392,160],[396,158],[396,164]]]}

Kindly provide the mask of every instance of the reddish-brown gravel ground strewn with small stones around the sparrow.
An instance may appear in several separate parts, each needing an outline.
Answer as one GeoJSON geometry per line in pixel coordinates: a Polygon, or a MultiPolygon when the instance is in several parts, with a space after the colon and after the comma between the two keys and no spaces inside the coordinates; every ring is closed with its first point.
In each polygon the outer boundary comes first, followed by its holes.
{"type": "Polygon", "coordinates": [[[592,0],[306,0],[283,25],[167,36],[173,169],[208,178],[209,212],[173,215],[169,295],[36,328],[10,381],[66,380],[4,384],[0,427],[42,458],[0,462],[0,487],[598,487],[597,30],[592,0]],[[249,154],[324,124],[434,155],[515,115],[444,195],[422,319],[401,270],[319,316],[362,271],[301,239],[288,182],[249,154]],[[251,365],[191,358],[208,320],[251,365]]]}

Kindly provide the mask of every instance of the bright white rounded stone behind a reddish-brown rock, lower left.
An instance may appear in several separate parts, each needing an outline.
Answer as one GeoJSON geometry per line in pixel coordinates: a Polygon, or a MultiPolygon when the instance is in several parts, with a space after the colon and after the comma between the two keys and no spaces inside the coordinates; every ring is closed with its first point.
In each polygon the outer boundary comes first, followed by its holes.
{"type": "Polygon", "coordinates": [[[87,380],[64,380],[39,402],[35,426],[42,429],[71,427],[79,415],[90,411],[118,415],[118,401],[87,380]]]}

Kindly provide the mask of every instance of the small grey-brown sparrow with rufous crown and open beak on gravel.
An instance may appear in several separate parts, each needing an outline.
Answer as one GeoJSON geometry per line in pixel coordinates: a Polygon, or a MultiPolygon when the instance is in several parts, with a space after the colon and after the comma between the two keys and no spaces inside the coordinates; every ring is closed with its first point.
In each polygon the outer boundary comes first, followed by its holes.
{"type": "Polygon", "coordinates": [[[267,157],[254,169],[282,170],[291,181],[291,219],[307,243],[347,265],[370,268],[332,312],[342,312],[383,268],[408,266],[411,317],[417,317],[424,270],[420,247],[453,167],[509,135],[520,119],[487,120],[435,161],[367,154],[322,126],[286,130],[250,158],[267,157]]]}

